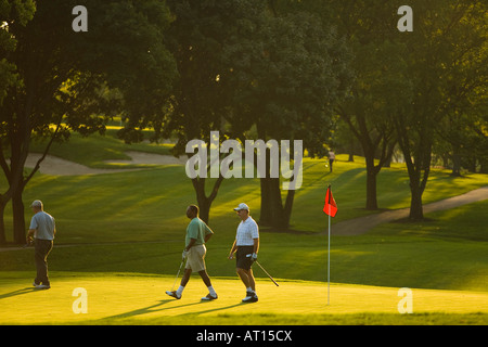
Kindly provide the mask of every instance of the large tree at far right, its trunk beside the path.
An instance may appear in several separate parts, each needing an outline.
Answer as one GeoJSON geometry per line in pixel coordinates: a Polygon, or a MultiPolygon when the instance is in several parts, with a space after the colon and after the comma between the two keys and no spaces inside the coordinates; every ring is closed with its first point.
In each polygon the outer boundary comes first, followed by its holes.
{"type": "Polygon", "coordinates": [[[486,18],[484,1],[414,1],[413,33],[398,39],[406,47],[404,78],[412,82],[410,105],[394,117],[398,143],[410,177],[410,219],[423,219],[435,129],[450,110],[483,99],[486,88],[486,18]],[[473,57],[476,57],[473,60],[473,57]],[[485,73],[483,73],[485,72],[485,73]]]}

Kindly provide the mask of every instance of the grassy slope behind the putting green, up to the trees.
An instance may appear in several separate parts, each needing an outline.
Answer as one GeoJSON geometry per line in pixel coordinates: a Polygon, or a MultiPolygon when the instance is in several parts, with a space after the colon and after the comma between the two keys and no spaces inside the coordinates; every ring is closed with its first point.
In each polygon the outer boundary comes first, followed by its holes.
{"type": "MultiPolygon", "coordinates": [[[[89,146],[89,142],[84,142],[85,139],[79,141],[89,146]]],[[[108,140],[110,143],[113,141],[108,140]]],[[[143,149],[144,145],[141,146],[143,149]]],[[[121,153],[125,149],[120,147],[121,153]]],[[[116,149],[107,145],[104,152],[115,153],[116,149]]],[[[100,159],[91,159],[89,154],[76,157],[84,157],[80,162],[86,165],[100,164],[100,159]]],[[[339,214],[333,222],[369,214],[362,208],[365,184],[363,164],[358,160],[341,162],[342,156],[338,158],[334,174],[326,171],[325,160],[305,160],[304,185],[296,194],[292,224],[295,230],[311,234],[261,232],[259,259],[273,275],[281,279],[325,280],[326,240],[317,232],[324,231],[326,226],[321,207],[328,183],[333,184],[334,196],[339,205],[339,214]]],[[[424,202],[453,196],[486,184],[486,175],[451,178],[445,171],[435,170],[431,175],[424,202]]],[[[175,275],[188,223],[184,209],[194,201],[194,192],[184,176],[184,169],[174,166],[101,176],[36,175],[24,198],[26,202],[42,198],[47,209],[56,217],[60,232],[57,247],[50,256],[51,270],[68,271],[77,277],[119,271],[175,275]],[[61,246],[73,243],[87,245],[61,246]]],[[[234,265],[226,260],[226,255],[237,223],[231,208],[241,201],[252,206],[253,216],[258,219],[260,201],[257,179],[223,182],[213,205],[210,226],[216,236],[208,244],[207,256],[211,277],[235,277],[234,265]]],[[[383,208],[408,207],[404,169],[394,167],[381,171],[378,202],[383,208]]],[[[429,220],[423,223],[388,223],[365,235],[333,237],[332,281],[397,288],[408,286],[486,292],[488,240],[480,226],[485,223],[484,211],[487,208],[487,202],[481,202],[431,214],[427,216],[429,220]]],[[[9,209],[5,216],[9,228],[9,209]]],[[[27,211],[26,219],[29,218],[27,211]]],[[[0,270],[8,271],[2,277],[15,275],[16,271],[31,273],[33,268],[29,250],[0,253],[0,270]]],[[[258,270],[256,273],[264,277],[258,270]]],[[[22,277],[25,278],[25,273],[22,277]]],[[[1,293],[9,293],[11,288],[14,292],[13,287],[5,286],[7,282],[1,283],[1,293]]],[[[16,283],[23,287],[23,284],[16,283]]],[[[395,300],[398,301],[398,298],[395,300]]],[[[262,314],[266,316],[266,312],[262,314]]],[[[312,312],[310,317],[314,314],[318,314],[316,318],[320,322],[330,320],[322,317],[321,312],[312,312]]],[[[389,316],[383,314],[389,313],[380,312],[374,318],[359,314],[352,322],[363,322],[364,319],[390,321],[389,316]]],[[[474,319],[479,322],[477,316],[462,317],[465,321],[474,319]]],[[[277,318],[271,314],[266,321],[271,322],[273,319],[277,318]]],[[[424,318],[424,321],[428,322],[429,319],[424,318]]]]}

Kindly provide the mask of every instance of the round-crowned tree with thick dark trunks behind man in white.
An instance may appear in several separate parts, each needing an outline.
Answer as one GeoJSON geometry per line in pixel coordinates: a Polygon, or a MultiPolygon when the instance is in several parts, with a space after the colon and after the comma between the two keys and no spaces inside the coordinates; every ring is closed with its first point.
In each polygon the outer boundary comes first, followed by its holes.
{"type": "MultiPolygon", "coordinates": [[[[222,83],[236,91],[231,124],[241,132],[255,125],[264,141],[303,140],[311,156],[323,156],[332,110],[350,77],[344,41],[307,12],[280,14],[274,9],[259,21],[239,24],[247,35],[226,47],[228,68],[221,75],[222,83]]],[[[287,191],[283,204],[269,160],[260,185],[260,224],[288,229],[295,191],[287,191]]]]}

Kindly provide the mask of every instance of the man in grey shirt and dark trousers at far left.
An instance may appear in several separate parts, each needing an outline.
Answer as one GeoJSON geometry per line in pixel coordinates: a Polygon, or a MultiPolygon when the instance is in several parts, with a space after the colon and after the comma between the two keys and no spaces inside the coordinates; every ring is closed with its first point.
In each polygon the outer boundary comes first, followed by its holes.
{"type": "Polygon", "coordinates": [[[34,216],[27,233],[27,243],[34,239],[37,275],[33,285],[38,290],[49,290],[51,283],[48,278],[48,255],[52,249],[56,227],[54,218],[44,213],[41,201],[36,200],[30,205],[34,216]]]}

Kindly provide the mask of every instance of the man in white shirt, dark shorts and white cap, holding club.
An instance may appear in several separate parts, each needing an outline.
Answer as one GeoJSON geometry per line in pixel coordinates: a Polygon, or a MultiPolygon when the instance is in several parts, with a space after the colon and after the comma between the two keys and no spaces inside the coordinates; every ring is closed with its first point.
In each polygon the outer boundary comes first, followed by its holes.
{"type": "Polygon", "coordinates": [[[237,232],[229,254],[229,260],[233,259],[234,253],[237,250],[236,272],[246,287],[246,296],[242,301],[256,303],[258,296],[256,294],[256,282],[251,266],[253,265],[253,261],[257,260],[259,250],[259,228],[253,217],[249,216],[249,207],[246,204],[239,204],[234,210],[237,213],[239,218],[241,218],[241,222],[237,226],[237,232]]]}

